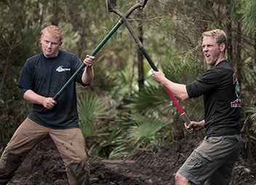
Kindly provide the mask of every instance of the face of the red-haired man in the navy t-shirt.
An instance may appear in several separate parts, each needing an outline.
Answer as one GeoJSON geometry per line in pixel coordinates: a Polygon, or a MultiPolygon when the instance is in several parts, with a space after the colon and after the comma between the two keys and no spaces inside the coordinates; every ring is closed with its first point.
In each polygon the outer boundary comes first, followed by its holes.
{"type": "Polygon", "coordinates": [[[44,36],[41,36],[41,49],[45,57],[56,57],[61,44],[60,38],[48,32],[44,33],[44,36]]]}

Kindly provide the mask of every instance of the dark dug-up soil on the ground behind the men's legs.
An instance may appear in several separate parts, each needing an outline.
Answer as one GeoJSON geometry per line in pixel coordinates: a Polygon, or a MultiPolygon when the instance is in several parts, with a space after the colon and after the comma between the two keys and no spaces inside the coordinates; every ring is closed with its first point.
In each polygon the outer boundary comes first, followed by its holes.
{"type": "MultiPolygon", "coordinates": [[[[93,185],[172,185],[175,172],[184,163],[199,141],[183,139],[161,147],[156,154],[137,152],[119,160],[89,157],[93,185]]],[[[233,168],[230,185],[256,184],[255,167],[248,159],[240,158],[233,168]]],[[[65,185],[65,167],[53,142],[42,141],[25,158],[9,185],[65,185]]]]}

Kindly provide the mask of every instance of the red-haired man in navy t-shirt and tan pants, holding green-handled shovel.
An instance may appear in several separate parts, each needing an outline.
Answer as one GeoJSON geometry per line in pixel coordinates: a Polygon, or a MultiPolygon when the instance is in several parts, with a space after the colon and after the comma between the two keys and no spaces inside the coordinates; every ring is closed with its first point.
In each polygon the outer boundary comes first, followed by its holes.
{"type": "Polygon", "coordinates": [[[28,152],[47,136],[60,152],[69,184],[89,184],[89,163],[76,107],[76,83],[92,83],[95,57],[85,57],[85,69],[55,101],[52,97],[82,62],[75,54],[60,50],[63,33],[55,25],[42,30],[40,42],[42,52],[27,59],[17,82],[21,96],[32,107],[1,155],[0,184],[7,184],[28,152]]]}

